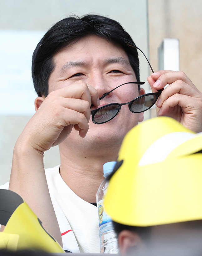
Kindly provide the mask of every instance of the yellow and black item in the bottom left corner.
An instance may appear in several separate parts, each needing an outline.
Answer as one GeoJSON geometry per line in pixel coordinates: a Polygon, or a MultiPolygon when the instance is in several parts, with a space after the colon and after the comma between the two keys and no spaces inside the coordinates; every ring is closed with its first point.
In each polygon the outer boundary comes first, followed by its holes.
{"type": "Polygon", "coordinates": [[[0,232],[0,249],[65,253],[22,197],[10,190],[0,189],[0,201],[0,223],[6,224],[4,231],[0,232]]]}

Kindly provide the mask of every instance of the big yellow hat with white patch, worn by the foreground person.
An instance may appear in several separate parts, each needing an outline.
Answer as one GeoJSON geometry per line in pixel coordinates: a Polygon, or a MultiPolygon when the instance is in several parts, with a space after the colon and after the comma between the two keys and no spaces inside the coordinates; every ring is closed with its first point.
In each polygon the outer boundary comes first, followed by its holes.
{"type": "Polygon", "coordinates": [[[202,219],[201,150],[202,133],[169,117],[135,126],[122,143],[123,163],[109,182],[106,212],[130,226],[202,219]]]}

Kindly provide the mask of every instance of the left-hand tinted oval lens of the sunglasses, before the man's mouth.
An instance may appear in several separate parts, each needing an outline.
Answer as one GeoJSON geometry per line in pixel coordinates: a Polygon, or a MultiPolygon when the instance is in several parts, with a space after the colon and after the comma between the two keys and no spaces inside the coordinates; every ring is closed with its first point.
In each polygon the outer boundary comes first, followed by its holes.
{"type": "Polygon", "coordinates": [[[102,108],[94,115],[94,121],[98,124],[106,123],[114,118],[119,112],[119,105],[111,105],[102,108]]]}

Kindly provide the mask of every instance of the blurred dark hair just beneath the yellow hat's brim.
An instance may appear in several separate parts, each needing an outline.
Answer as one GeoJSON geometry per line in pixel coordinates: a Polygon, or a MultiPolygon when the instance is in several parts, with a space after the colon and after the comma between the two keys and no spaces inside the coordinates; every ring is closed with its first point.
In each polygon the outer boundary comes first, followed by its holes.
{"type": "Polygon", "coordinates": [[[150,240],[152,226],[148,226],[148,227],[129,226],[129,225],[117,223],[115,221],[112,221],[112,223],[114,226],[114,231],[116,232],[117,236],[122,230],[130,230],[132,232],[137,233],[143,242],[148,243],[150,240]]]}

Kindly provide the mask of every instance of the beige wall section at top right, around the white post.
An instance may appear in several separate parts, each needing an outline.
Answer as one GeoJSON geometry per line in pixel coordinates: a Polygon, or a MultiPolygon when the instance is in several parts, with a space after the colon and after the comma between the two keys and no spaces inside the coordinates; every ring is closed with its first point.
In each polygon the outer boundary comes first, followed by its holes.
{"type": "Polygon", "coordinates": [[[150,61],[158,69],[163,38],[180,41],[180,70],[202,91],[202,1],[148,0],[150,61]]]}

